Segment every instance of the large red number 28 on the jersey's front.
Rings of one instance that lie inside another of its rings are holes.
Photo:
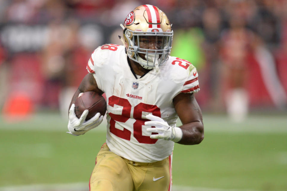
[[[123,130],[117,129],[115,127],[115,124],[116,121],[124,123],[130,118],[132,105],[129,103],[129,100],[125,98],[119,98],[117,96],[109,97],[109,105],[114,107],[115,104],[123,107],[122,115],[109,113],[109,115],[111,116],[110,132],[113,133],[114,135],[117,135],[120,138],[130,141],[132,132],[125,128],[123,128]],[[156,105],[149,105],[144,103],[139,103],[138,105],[136,105],[133,112],[133,118],[135,118],[136,120],[135,123],[133,124],[134,128],[133,136],[138,140],[139,143],[155,144],[155,142],[158,139],[151,139],[149,136],[142,135],[142,125],[144,125],[145,121],[148,121],[148,119],[142,118],[143,112],[152,113],[152,115],[161,117],[160,109]]]

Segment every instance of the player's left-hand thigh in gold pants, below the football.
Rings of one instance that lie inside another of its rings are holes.
[[[103,145],[90,178],[90,191],[132,191],[132,177],[126,162]]]

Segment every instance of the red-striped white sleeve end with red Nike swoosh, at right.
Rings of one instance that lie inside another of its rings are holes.
[[[190,65],[188,69],[190,72],[187,78],[185,79],[185,82],[181,88],[180,93],[196,93],[200,90],[196,67]]]

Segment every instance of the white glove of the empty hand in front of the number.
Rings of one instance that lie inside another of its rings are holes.
[[[178,142],[182,138],[182,130],[179,127],[170,127],[169,124],[162,118],[154,116],[152,114],[146,115],[146,118],[151,121],[146,121],[144,124],[149,126],[154,126],[155,128],[147,128],[146,131],[152,133],[158,133],[150,135],[152,139],[162,138],[164,140],[171,140]]]

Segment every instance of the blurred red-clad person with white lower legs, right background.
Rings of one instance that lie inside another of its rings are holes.
[[[248,53],[251,50],[252,33],[245,28],[245,20],[238,15],[229,19],[230,28],[222,34],[221,90],[226,110],[231,119],[244,120],[248,113]]]

